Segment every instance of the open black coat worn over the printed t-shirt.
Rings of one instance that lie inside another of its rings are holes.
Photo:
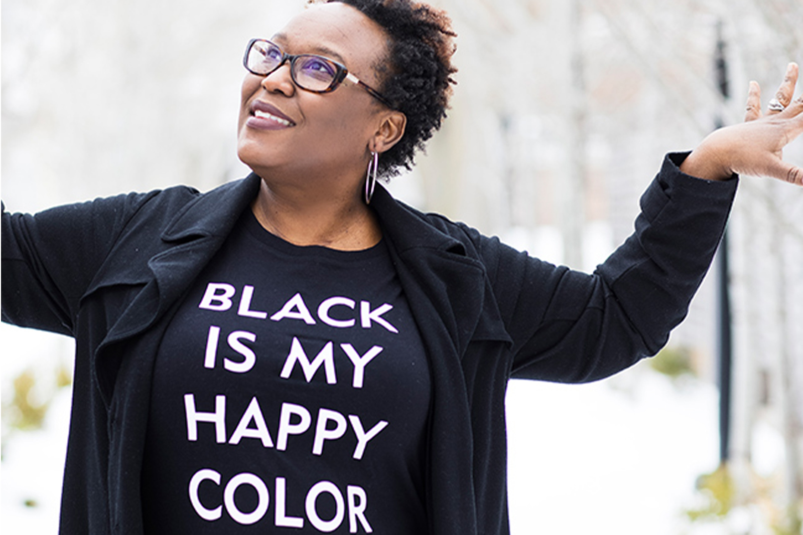
[[[504,398],[511,378],[585,382],[654,355],[687,314],[736,180],[670,155],[635,233],[594,274],[528,257],[377,188],[372,206],[433,382],[426,501],[434,535],[508,533]],[[259,189],[177,187],[3,211],[2,319],[75,337],[60,533],[141,534],[150,375],[177,302]]]

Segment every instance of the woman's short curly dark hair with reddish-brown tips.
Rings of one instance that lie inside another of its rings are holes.
[[[379,159],[379,174],[396,176],[414,164],[415,152],[441,127],[449,106],[451,64],[457,34],[445,11],[411,0],[326,0],[361,11],[389,37],[388,66],[377,67],[384,77],[379,92],[407,117],[404,136]],[[311,3],[315,0],[311,0]]]

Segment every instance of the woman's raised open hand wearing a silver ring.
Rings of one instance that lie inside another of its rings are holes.
[[[803,133],[803,95],[793,100],[798,67],[789,63],[781,87],[770,102],[781,103],[761,111],[761,89],[750,83],[744,123],[720,128],[707,136],[687,157],[680,170],[708,180],[726,180],[733,173],[772,176],[803,186],[803,168],[783,160],[784,147]]]

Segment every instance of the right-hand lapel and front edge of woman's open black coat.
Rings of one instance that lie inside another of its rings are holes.
[[[483,264],[470,244],[434,227],[422,213],[374,193],[399,281],[433,379],[427,457],[431,533],[477,533],[471,399],[462,357],[472,339],[510,342]],[[444,227],[446,229],[446,227]]]

